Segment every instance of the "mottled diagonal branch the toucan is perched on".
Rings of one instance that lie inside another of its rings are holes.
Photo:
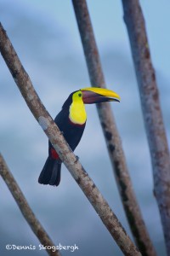
[[[42,126],[43,131],[48,136],[48,139],[53,144],[55,150],[59,154],[59,158],[64,162],[71,175],[75,178],[83,193],[88,197],[99,218],[105,224],[105,227],[111,233],[111,236],[116,240],[117,245],[122,249],[125,255],[141,255],[133,242],[127,236],[122,224],[119,223],[114,212],[111,211],[108,203],[100,194],[99,189],[94,182],[88,177],[79,160],[75,154],[71,152],[68,144],[54,120],[49,116],[47,110],[43,107],[42,102],[37,96],[31,84],[31,79],[26,73],[24,67],[10,43],[3,26],[0,24],[0,50],[3,59],[14,77],[15,83],[18,85],[20,92],[28,107],[31,109],[34,117],[37,119],[39,125]]]

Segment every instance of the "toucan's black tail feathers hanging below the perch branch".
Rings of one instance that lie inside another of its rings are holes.
[[[38,178],[38,183],[58,186],[60,182],[61,161],[48,156]]]

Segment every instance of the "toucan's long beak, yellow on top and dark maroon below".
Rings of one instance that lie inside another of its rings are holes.
[[[83,88],[82,101],[84,104],[93,104],[100,102],[120,102],[120,96],[113,90],[107,90],[104,88]]]

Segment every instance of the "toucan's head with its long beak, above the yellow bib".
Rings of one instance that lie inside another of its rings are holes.
[[[120,96],[113,90],[89,87],[72,92],[65,101],[63,108],[70,107],[72,102],[83,102],[84,104],[120,102]]]

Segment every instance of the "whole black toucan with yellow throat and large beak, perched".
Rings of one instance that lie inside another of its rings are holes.
[[[84,104],[100,102],[120,102],[120,96],[112,90],[103,88],[90,87],[76,90],[67,98],[54,119],[72,151],[77,148],[86,125],[87,113]],[[48,159],[42,168],[38,183],[58,186],[61,163],[53,145],[48,142]]]

